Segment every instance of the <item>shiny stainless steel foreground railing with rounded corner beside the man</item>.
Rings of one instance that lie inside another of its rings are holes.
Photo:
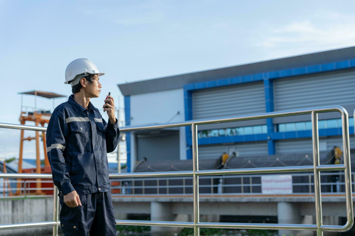
[[[343,153],[344,164],[342,165],[320,165],[319,163],[319,145],[318,145],[318,113],[338,111],[342,116],[342,137],[343,137]],[[355,111],[354,111],[355,113]],[[248,168],[248,169],[222,169],[222,170],[198,170],[198,152],[197,152],[197,125],[222,123],[231,121],[266,119],[281,116],[292,116],[311,114],[312,120],[312,146],[313,146],[313,165],[312,166],[293,166],[293,167],[268,167],[268,168]],[[191,126],[192,129],[192,171],[174,171],[174,172],[148,172],[148,173],[120,173],[110,174],[111,178],[124,177],[163,177],[163,176],[192,176],[193,178],[193,222],[172,222],[172,221],[145,221],[145,220],[116,220],[116,223],[122,225],[147,225],[147,226],[171,226],[171,227],[189,227],[194,229],[194,235],[200,235],[200,228],[237,228],[237,229],[272,229],[272,230],[313,230],[317,231],[317,236],[323,235],[323,231],[344,232],[353,226],[353,202],[351,192],[351,169],[350,169],[350,145],[349,145],[349,123],[348,113],[340,106],[318,107],[310,109],[298,109],[289,111],[277,111],[271,113],[261,113],[246,116],[233,116],[218,119],[192,120],[169,124],[158,124],[148,126],[122,127],[121,132],[130,132],[141,129],[169,128]],[[11,125],[0,123],[3,128],[27,129],[43,131],[45,128]],[[45,131],[45,130],[44,130]],[[322,223],[322,205],[320,191],[320,172],[321,171],[340,171],[344,170],[345,178],[345,199],[347,222],[343,226],[323,225]],[[276,173],[276,172],[313,172],[315,186],[315,207],[316,207],[316,224],[248,224],[248,223],[206,223],[199,220],[199,194],[198,194],[198,178],[206,175],[221,174],[255,174],[255,173]],[[50,174],[0,174],[0,178],[51,178]],[[45,225],[53,225],[53,235],[58,235],[58,189],[54,188],[54,215],[53,221],[22,223],[0,225],[1,229],[14,229],[24,227],[37,227]]]

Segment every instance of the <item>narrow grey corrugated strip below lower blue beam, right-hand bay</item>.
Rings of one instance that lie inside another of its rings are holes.
[[[339,146],[343,150],[343,140],[341,136],[319,139],[319,151],[330,151],[334,146]],[[350,149],[355,149],[354,135],[350,135]],[[312,152],[312,139],[286,139],[276,141],[277,154],[294,154]]]

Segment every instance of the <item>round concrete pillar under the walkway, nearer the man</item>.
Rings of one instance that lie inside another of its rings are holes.
[[[151,202],[152,221],[173,221],[175,216],[171,213],[170,202]],[[174,235],[177,227],[151,226],[152,236]]]

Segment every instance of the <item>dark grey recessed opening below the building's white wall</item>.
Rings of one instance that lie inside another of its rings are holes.
[[[179,132],[159,136],[137,136],[137,161],[180,160]]]

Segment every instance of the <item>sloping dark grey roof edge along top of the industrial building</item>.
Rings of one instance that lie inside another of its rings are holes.
[[[124,96],[182,88],[185,84],[284,70],[355,58],[355,46],[118,84]]]

